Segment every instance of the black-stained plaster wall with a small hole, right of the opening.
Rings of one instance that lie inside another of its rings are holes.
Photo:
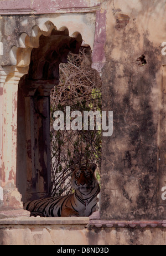
[[[108,1],[102,106],[113,110],[114,121],[113,136],[102,144],[103,219],[166,216],[164,171],[159,176],[164,17],[165,1]],[[142,55],[147,64],[140,66]]]

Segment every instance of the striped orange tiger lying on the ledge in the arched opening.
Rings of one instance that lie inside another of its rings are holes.
[[[40,217],[71,217],[90,216],[96,209],[97,195],[100,186],[95,176],[96,164],[90,167],[71,165],[71,185],[74,193],[37,199],[24,204],[30,216]]]

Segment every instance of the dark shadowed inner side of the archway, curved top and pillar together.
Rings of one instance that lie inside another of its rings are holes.
[[[40,36],[29,72],[18,86],[17,188],[23,201],[50,196],[50,91],[59,83],[59,64],[79,53],[82,37],[66,31]]]

